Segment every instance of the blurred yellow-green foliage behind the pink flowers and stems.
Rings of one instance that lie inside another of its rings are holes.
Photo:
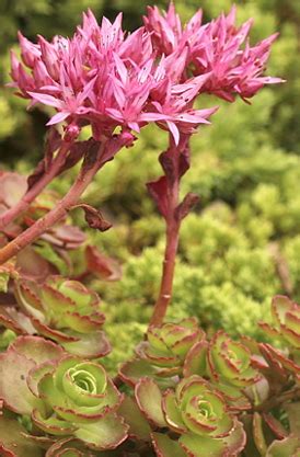
[[[165,2],[158,2],[165,7]],[[238,0],[239,21],[255,19],[253,41],[275,31],[269,73],[286,84],[263,90],[251,106],[221,104],[212,125],[193,140],[192,169],[183,194],[201,201],[184,222],[174,298],[169,317],[196,315],[207,329],[223,327],[232,335],[261,339],[256,322],[268,319],[273,295],[288,293],[300,300],[300,3],[295,0]],[[210,19],[228,11],[231,0],[175,1],[184,20],[197,8]],[[16,31],[70,34],[81,11],[97,18],[125,13],[128,30],[140,23],[147,2],[134,0],[2,0],[0,2],[0,81],[9,81],[9,48]],[[46,111],[25,111],[23,100],[0,89],[1,165],[26,171],[43,151]],[[95,283],[107,315],[107,331],[116,343],[112,364],[130,352],[146,327],[158,293],[163,222],[145,183],[159,176],[158,155],[164,133],[149,127],[132,149],[101,172],[85,195],[103,208],[115,228],[92,233],[94,241],[123,263],[118,283]],[[54,184],[64,193],[72,174]],[[81,218],[78,222],[83,225]]]

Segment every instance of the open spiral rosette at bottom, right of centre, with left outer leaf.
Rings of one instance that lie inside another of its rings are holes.
[[[242,425],[228,411],[222,395],[199,376],[183,379],[175,390],[168,389],[163,393],[151,379],[145,378],[136,387],[136,398],[150,422],[160,427],[168,426],[180,435],[178,441],[173,442],[154,434],[158,455],[171,455],[170,446],[174,447],[176,443],[183,455],[197,457],[233,457],[244,447]],[[161,409],[158,408],[159,400]],[[165,453],[161,445],[169,452]]]

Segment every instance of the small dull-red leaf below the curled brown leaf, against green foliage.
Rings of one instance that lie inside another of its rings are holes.
[[[112,258],[103,255],[94,245],[85,249],[85,260],[88,271],[99,276],[101,279],[118,281],[122,277],[120,265]]]

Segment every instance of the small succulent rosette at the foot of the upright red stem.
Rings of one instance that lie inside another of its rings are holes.
[[[123,365],[120,376],[135,385],[142,376],[171,378],[178,375],[188,351],[204,336],[195,318],[150,327],[147,341],[136,349],[138,358]]]

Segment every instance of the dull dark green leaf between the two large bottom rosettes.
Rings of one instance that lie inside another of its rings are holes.
[[[118,414],[120,414],[129,425],[129,437],[146,442],[150,441],[151,427],[141,414],[134,398],[128,396],[125,397],[118,409]]]

